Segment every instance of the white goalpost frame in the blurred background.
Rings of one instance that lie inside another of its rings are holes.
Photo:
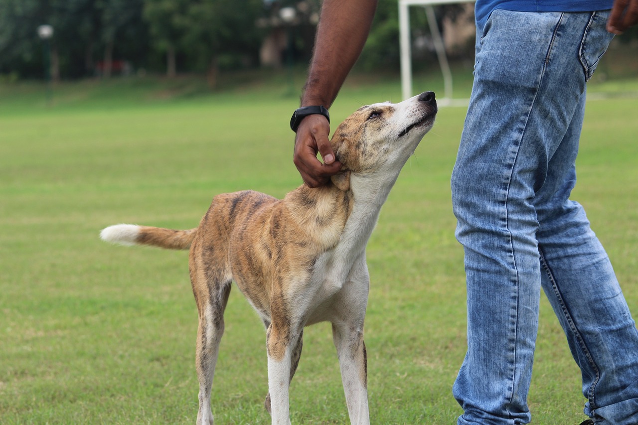
[[[403,99],[412,97],[412,43],[410,42],[410,6],[423,6],[432,34],[432,41],[438,57],[441,73],[443,73],[443,98],[437,101],[439,105],[466,105],[467,100],[452,98],[452,71],[447,62],[445,45],[441,38],[441,31],[436,24],[434,8],[437,4],[470,3],[472,0],[399,0],[399,45],[401,55],[401,96]]]

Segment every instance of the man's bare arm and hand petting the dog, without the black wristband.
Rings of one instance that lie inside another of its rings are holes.
[[[376,0],[323,1],[302,107],[332,105],[366,43],[375,10]],[[341,168],[329,133],[328,120],[318,114],[305,117],[297,129],[293,161],[311,188],[327,183]],[[317,152],[323,163],[316,158]]]

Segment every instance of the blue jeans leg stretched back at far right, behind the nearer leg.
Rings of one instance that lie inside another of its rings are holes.
[[[599,424],[638,424],[638,330],[584,209],[568,198],[581,121],[577,111],[535,198],[541,282],[581,368],[585,414]]]

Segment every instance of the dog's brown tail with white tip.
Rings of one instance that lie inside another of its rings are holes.
[[[188,250],[197,228],[190,230],[171,230],[161,227],[137,225],[114,225],[103,229],[100,237],[103,241],[121,245],[152,245],[167,250]]]

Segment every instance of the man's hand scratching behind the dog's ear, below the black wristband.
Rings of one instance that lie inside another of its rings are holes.
[[[337,174],[341,168],[332,152],[329,134],[330,124],[319,114],[305,117],[297,129],[293,161],[304,183],[311,188],[328,183],[330,176]],[[318,152],[323,163],[317,159]]]

